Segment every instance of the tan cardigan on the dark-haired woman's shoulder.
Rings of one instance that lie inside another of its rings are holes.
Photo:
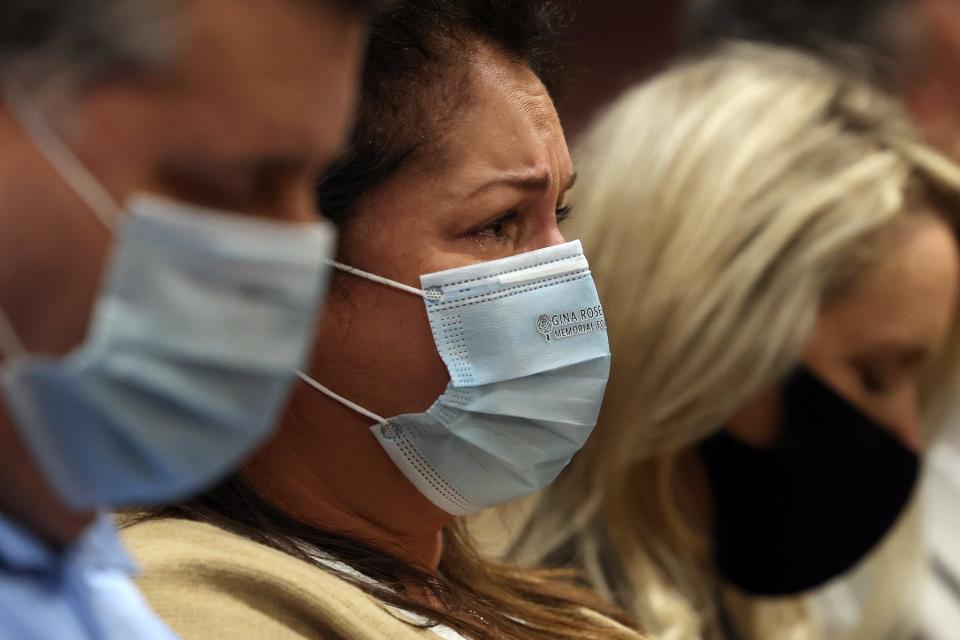
[[[140,588],[183,640],[438,640],[333,574],[211,525],[157,520],[122,537]]]

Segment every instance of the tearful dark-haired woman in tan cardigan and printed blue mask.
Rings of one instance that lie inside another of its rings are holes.
[[[319,187],[340,271],[304,383],[238,476],[126,530],[187,640],[637,637],[568,574],[482,559],[455,517],[552,481],[609,370],[557,228],[556,24],[531,0],[414,0],[374,24]]]

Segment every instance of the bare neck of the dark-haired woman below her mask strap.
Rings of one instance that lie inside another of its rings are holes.
[[[309,418],[307,418],[309,416]],[[397,469],[369,420],[298,390],[280,430],[245,479],[291,517],[435,571],[452,518]]]

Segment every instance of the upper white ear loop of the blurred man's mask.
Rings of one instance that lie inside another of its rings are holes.
[[[40,115],[39,108],[26,93],[18,87],[10,86],[7,87],[5,96],[11,115],[37,146],[40,154],[76,191],[107,230],[113,232],[120,217],[120,207],[113,196],[50,128]]]

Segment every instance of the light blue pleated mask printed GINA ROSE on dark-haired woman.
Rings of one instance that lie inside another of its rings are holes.
[[[369,417],[393,462],[441,509],[466,515],[550,484],[597,423],[610,371],[603,309],[579,241],[421,278],[450,374],[424,413]]]

